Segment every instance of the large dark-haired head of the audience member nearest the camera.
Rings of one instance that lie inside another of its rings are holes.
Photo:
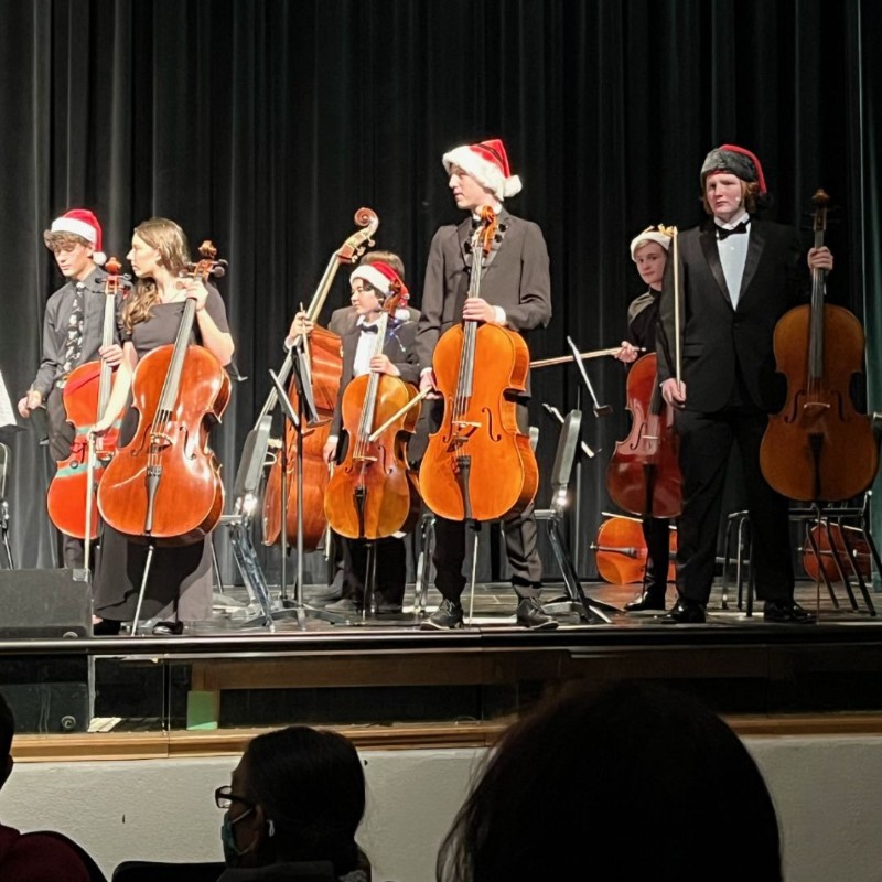
[[[722,836],[733,843],[724,856]],[[621,684],[564,698],[505,734],[437,875],[779,882],[777,818],[722,720],[687,696]]]

